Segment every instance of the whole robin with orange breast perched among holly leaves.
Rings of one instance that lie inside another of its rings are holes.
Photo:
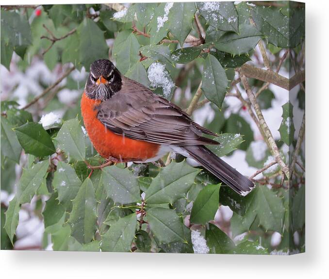
[[[194,159],[235,192],[246,196],[255,186],[205,145],[217,136],[179,106],[120,73],[108,59],[96,60],[81,99],[87,134],[99,155],[110,162],[156,162],[168,152]]]

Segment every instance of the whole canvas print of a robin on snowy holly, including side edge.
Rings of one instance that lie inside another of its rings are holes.
[[[1,249],[305,251],[305,5],[1,6]]]

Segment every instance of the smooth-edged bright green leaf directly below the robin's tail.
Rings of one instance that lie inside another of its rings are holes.
[[[220,184],[208,184],[197,195],[193,203],[190,222],[193,224],[205,224],[214,220],[218,210]]]

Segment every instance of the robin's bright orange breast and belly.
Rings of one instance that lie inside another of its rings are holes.
[[[107,129],[97,118],[95,106],[99,100],[92,100],[82,94],[81,111],[88,136],[100,156],[115,157],[125,161],[145,161],[157,155],[160,145],[134,140],[115,134]],[[137,160],[136,160],[137,161]]]

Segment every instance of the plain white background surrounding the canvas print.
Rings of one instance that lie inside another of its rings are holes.
[[[128,0],[127,0],[128,1]],[[100,2],[70,0],[66,3]],[[143,2],[147,2],[144,0]],[[1,278],[324,278],[329,275],[329,1],[306,2],[306,253],[294,256],[0,251]],[[39,1],[1,1],[1,4]],[[43,4],[54,0],[42,0]],[[64,3],[64,1],[56,2]]]

